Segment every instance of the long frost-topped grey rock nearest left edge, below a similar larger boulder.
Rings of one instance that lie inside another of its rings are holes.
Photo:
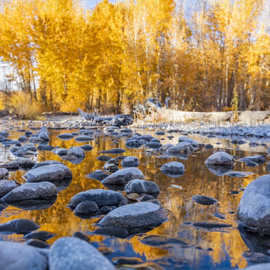
[[[57,195],[57,188],[50,182],[25,183],[2,197],[6,203],[29,199],[41,199]]]

